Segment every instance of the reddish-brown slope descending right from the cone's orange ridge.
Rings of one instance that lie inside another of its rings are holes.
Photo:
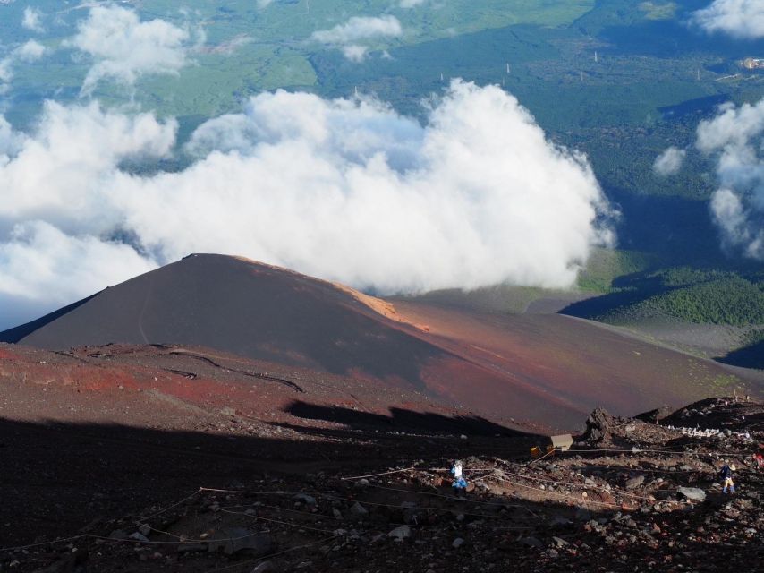
[[[427,324],[427,339],[462,361],[489,372],[475,392],[473,381],[455,373],[439,391],[477,411],[522,409],[534,419],[569,423],[566,412],[590,412],[595,404],[632,415],[655,404],[683,404],[739,386],[757,394],[755,377],[737,379],[724,366],[684,355],[591,321],[561,314],[463,312],[412,302],[395,302],[403,320]],[[426,370],[426,372],[429,372]],[[496,377],[502,380],[497,384]],[[562,415],[563,417],[557,417]],[[574,422],[573,422],[574,423]]]

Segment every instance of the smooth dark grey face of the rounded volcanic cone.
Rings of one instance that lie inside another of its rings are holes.
[[[386,324],[352,295],[252,261],[193,254],[15,329],[0,341],[207,346],[259,360],[417,383],[443,350]]]

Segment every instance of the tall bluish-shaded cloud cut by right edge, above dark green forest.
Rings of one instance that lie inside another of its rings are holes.
[[[710,207],[725,246],[764,261],[764,98],[720,107],[700,122],[695,144],[717,158],[719,189]]]

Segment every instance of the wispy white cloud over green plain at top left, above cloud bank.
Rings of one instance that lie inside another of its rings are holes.
[[[90,8],[65,45],[94,61],[82,85],[87,95],[106,79],[132,86],[144,74],[177,74],[188,63],[190,42],[186,28],[159,19],[141,22],[133,10],[106,5]]]

